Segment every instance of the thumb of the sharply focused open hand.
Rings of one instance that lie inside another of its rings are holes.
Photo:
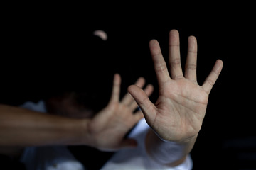
[[[139,108],[142,109],[146,121],[149,124],[153,123],[153,120],[156,117],[156,107],[151,103],[146,92],[136,85],[129,86],[128,91],[139,105]]]

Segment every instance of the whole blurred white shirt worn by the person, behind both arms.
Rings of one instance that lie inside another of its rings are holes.
[[[32,103],[30,101],[24,103],[21,107],[28,108],[33,111],[46,113],[45,103],[39,101]],[[193,162],[188,156],[183,162],[176,167],[167,167],[157,164],[146,153],[144,140],[146,132],[149,130],[144,119],[137,123],[136,127],[130,132],[129,137],[134,138],[138,142],[138,146],[134,149],[121,149],[116,152],[110,160],[102,166],[101,170],[191,170]],[[175,157],[175,155],[174,155]],[[21,162],[26,165],[28,170],[85,170],[78,160],[73,157],[66,147],[27,147],[21,157]]]

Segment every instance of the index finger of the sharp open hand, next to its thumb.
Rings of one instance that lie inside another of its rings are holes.
[[[159,84],[165,83],[170,79],[169,72],[164,61],[164,57],[161,53],[159,42],[157,40],[151,40],[149,42],[149,48],[154,62],[154,69]]]

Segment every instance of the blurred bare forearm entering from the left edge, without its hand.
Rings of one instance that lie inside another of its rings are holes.
[[[0,105],[0,146],[86,145],[87,121]]]

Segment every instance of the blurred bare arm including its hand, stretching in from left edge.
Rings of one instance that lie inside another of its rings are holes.
[[[42,114],[16,106],[0,105],[0,147],[41,145],[88,145],[102,150],[134,147],[136,141],[124,139],[129,130],[143,118],[137,103],[127,93],[119,101],[121,77],[114,75],[109,104],[93,118],[68,118]],[[135,83],[143,87],[144,78]],[[153,86],[144,89],[151,94]]]

